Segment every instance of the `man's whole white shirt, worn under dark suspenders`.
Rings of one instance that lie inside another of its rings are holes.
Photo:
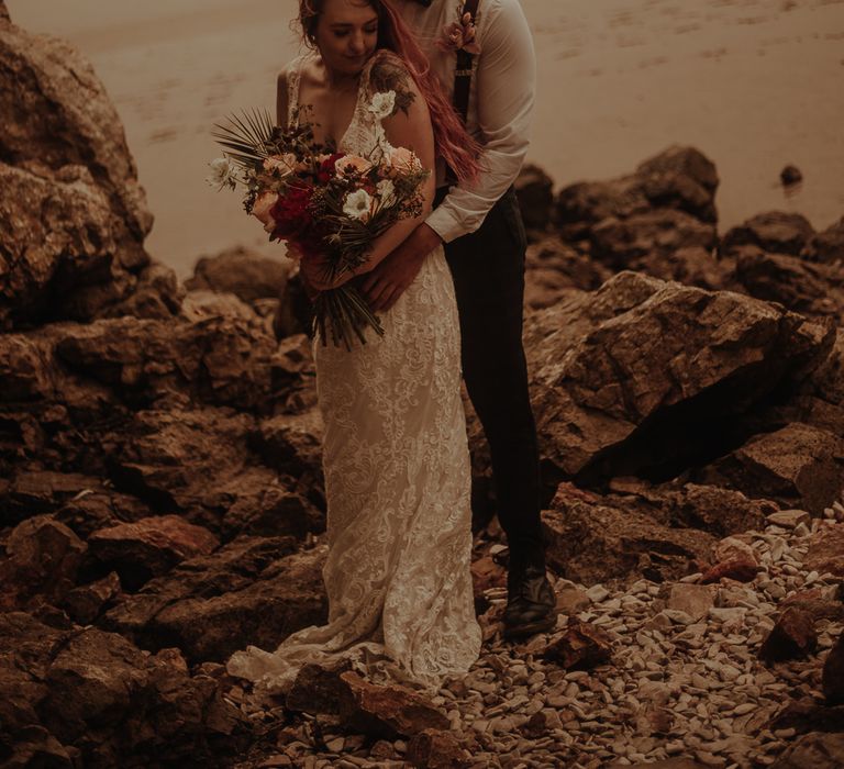
[[[396,7],[417,34],[451,99],[456,54],[441,51],[436,43],[444,37],[443,27],[457,21],[458,0],[434,0],[430,8],[413,0],[396,0]],[[484,223],[519,175],[530,142],[536,57],[519,0],[480,0],[476,36],[480,54],[471,78],[466,123],[485,146],[484,170],[476,186],[454,187],[427,218],[426,224],[445,243],[475,232]],[[444,168],[437,168],[437,183],[444,176]]]

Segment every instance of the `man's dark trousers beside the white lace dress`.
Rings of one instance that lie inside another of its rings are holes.
[[[538,448],[522,346],[525,248],[511,187],[476,232],[445,244],[445,255],[460,317],[463,377],[489,442],[511,564],[542,566]]]

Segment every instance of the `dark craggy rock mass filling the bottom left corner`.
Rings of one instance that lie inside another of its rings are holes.
[[[13,612],[0,614],[0,660],[5,759],[127,766],[167,755],[218,766],[246,747],[244,716],[211,678],[190,678],[178,650],[151,657],[112,633],[56,631]]]

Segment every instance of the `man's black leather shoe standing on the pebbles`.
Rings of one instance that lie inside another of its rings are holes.
[[[557,599],[540,566],[511,565],[507,577],[504,638],[546,633],[557,624]]]

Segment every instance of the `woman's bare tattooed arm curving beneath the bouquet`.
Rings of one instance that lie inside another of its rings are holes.
[[[391,90],[396,92],[393,113],[382,121],[387,141],[393,147],[412,149],[422,161],[422,167],[429,170],[429,177],[421,190],[422,212],[414,219],[402,219],[396,222],[387,232],[373,241],[366,263],[354,272],[346,272],[332,283],[320,283],[314,275],[316,288],[320,289],[336,288],[355,276],[371,270],[425,221],[425,218],[431,213],[434,201],[436,183],[434,178],[434,133],[431,127],[427,104],[419,92],[417,83],[396,56],[382,56],[373,65],[370,83],[373,91]]]

